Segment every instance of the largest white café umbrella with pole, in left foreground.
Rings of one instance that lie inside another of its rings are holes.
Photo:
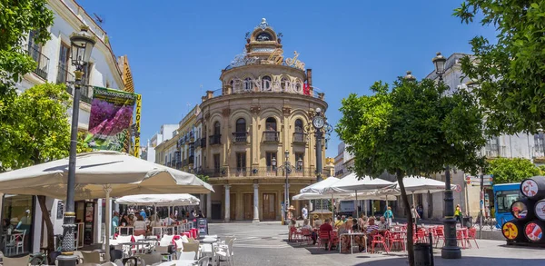
[[[106,199],[106,260],[110,255],[110,196],[143,193],[208,193],[195,175],[150,163],[126,153],[80,153],[75,165],[75,200]],[[0,192],[66,197],[68,158],[0,173]]]

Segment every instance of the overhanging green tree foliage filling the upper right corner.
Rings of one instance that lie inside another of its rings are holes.
[[[461,60],[461,69],[481,86],[475,93],[486,107],[487,128],[536,133],[545,126],[545,2],[466,0],[454,11],[466,24],[478,14],[481,25],[498,32],[497,43],[474,37],[474,55]]]

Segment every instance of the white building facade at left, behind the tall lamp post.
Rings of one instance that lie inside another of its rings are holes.
[[[54,12],[54,25],[49,28],[51,39],[45,44],[36,44],[33,40],[34,33],[29,33],[25,49],[35,59],[37,67],[34,72],[25,74],[23,80],[16,84],[17,90],[24,92],[36,84],[67,84],[67,82],[74,81],[75,68],[70,61],[70,34],[79,32],[81,25],[88,26],[97,41],[90,63],[84,66],[83,83],[88,86],[83,86],[81,90],[78,128],[81,131],[87,131],[91,111],[90,103],[93,98],[92,86],[123,90],[122,70],[117,64],[107,34],[80,5],[73,0],[49,0],[48,7]],[[70,94],[73,92],[71,87],[72,85],[67,84]],[[69,119],[71,116],[72,110],[69,110]],[[104,205],[105,202],[101,199],[75,203],[78,224],[78,232],[75,237],[80,247],[84,244],[102,241]],[[46,207],[51,213],[54,234],[62,234],[63,202],[47,198]],[[12,225],[19,226],[25,231],[23,252],[38,252],[41,246],[46,245],[46,232],[45,227],[42,227],[42,216],[43,213],[35,196],[4,195],[2,219],[10,220]],[[17,225],[18,222],[21,222],[21,225]]]

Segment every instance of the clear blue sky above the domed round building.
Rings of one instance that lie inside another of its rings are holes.
[[[332,124],[348,94],[369,94],[375,81],[390,83],[407,70],[420,79],[433,70],[436,52],[471,53],[474,35],[494,35],[451,15],[461,0],[78,3],[104,19],[114,53],[128,55],[135,90],[143,94],[142,143],[161,124],[178,123],[205,91],[221,88],[221,70],[242,52],[244,34],[262,17],[282,32],[284,54],[296,50],[312,68]],[[338,143],[332,133],[327,156],[336,155]]]

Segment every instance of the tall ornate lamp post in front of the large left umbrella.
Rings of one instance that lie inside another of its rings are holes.
[[[68,183],[66,189],[66,209],[64,212],[62,253],[57,257],[59,266],[74,266],[77,261],[77,257],[74,256],[74,182],[80,89],[84,75],[84,65],[89,63],[91,52],[93,52],[93,47],[96,43],[94,35],[90,34],[88,30],[89,27],[83,25],[79,33],[74,33],[70,36],[72,64],[75,66],[74,103],[72,105],[72,129],[70,133],[70,157],[68,159]]]

